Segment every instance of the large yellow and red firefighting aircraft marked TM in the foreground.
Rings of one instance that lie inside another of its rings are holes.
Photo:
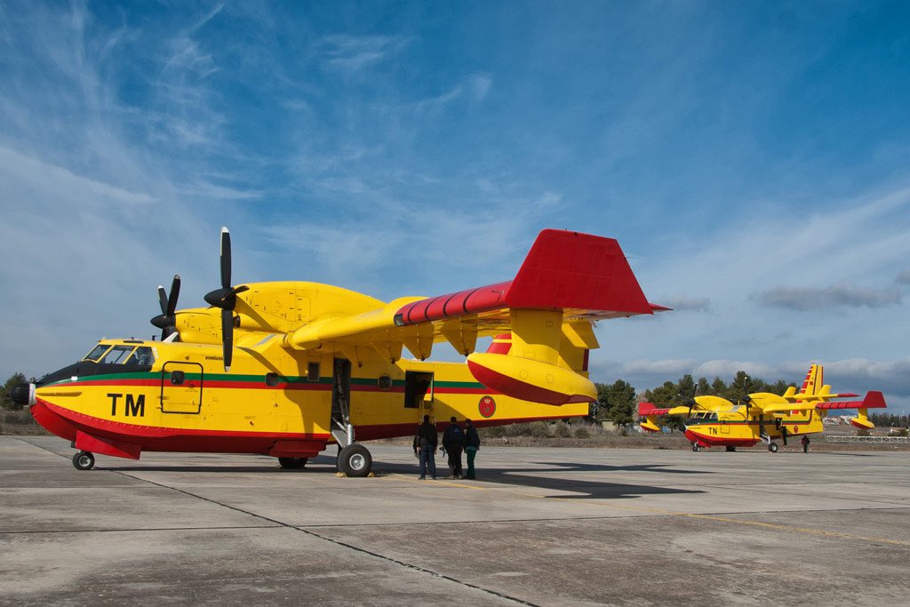
[[[312,282],[232,286],[227,228],[220,265],[209,308],[177,310],[179,276],[158,287],[160,341],[102,339],[13,390],[73,442],[77,469],[93,453],[143,451],[259,453],[302,468],[337,443],[339,470],[366,476],[372,459],[356,440],[412,435],[424,415],[439,428],[450,416],[493,426],[587,415],[593,322],[665,309],[616,240],[552,229],[511,280],[389,303]],[[441,341],[467,364],[425,361]]]

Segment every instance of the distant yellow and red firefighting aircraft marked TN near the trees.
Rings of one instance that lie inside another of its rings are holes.
[[[743,399],[742,404],[717,396],[696,396],[687,405],[658,409],[650,402],[639,403],[638,413],[644,418],[642,429],[660,431],[656,419],[660,415],[685,416],[685,436],[692,441],[692,449],[703,447],[752,447],[758,441],[767,443],[768,450],[776,453],[775,439],[787,444],[787,437],[821,432],[822,420],[829,410],[855,409],[857,415],[850,422],[857,428],[875,428],[869,421],[867,410],[885,407],[881,392],[867,392],[863,400],[834,401],[853,398],[857,394],[832,394],[831,386],[824,384],[824,368],[812,365],[805,376],[799,393],[791,386],[783,396],[769,392],[755,392]]]

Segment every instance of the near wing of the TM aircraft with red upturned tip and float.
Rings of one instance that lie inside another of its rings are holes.
[[[664,309],[645,298],[616,240],[545,229],[511,280],[432,298],[399,298],[381,309],[310,322],[285,342],[298,349],[338,349],[357,361],[358,349],[396,360],[402,347],[426,359],[433,343],[445,340],[469,357],[471,372],[484,385],[524,400],[563,404],[597,398],[593,384],[578,373],[587,370],[586,351],[598,347],[592,321]],[[486,353],[474,352],[484,336],[503,339]]]

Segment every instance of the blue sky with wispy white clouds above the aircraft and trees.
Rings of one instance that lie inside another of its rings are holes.
[[[148,337],[158,284],[391,299],[619,239],[652,301],[595,380],[910,410],[910,5],[0,4],[0,375]]]

